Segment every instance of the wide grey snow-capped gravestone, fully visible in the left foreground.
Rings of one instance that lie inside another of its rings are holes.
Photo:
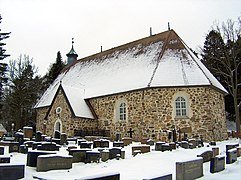
[[[72,156],[65,155],[40,155],[37,160],[37,172],[45,172],[49,170],[71,169]]]

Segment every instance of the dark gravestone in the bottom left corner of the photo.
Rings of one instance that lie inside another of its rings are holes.
[[[25,165],[0,164],[1,180],[16,180],[24,178]]]

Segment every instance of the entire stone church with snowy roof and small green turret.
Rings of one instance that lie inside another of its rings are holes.
[[[227,91],[174,30],[136,40],[68,65],[36,104],[37,130],[103,132],[167,141],[168,132],[224,140]],[[92,134],[91,134],[92,132]]]

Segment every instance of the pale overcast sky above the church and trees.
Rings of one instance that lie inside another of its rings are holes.
[[[168,22],[189,47],[203,46],[214,21],[237,20],[241,0],[0,0],[5,49],[33,58],[44,75],[60,51],[86,57],[166,31]]]

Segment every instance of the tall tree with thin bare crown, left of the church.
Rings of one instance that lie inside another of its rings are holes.
[[[20,129],[35,120],[33,107],[39,98],[41,79],[29,56],[20,56],[9,63],[9,86],[5,100],[5,117]]]

